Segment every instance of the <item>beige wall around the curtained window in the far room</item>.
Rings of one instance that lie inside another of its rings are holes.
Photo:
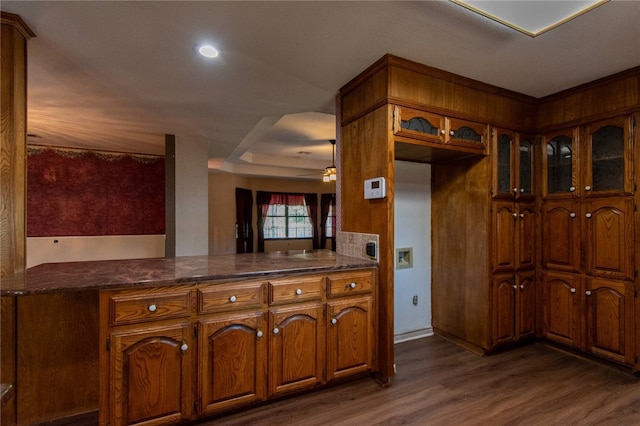
[[[229,173],[209,173],[209,254],[231,254],[236,252],[236,188],[253,192],[254,251],[258,243],[256,230],[257,191],[334,193],[335,184],[318,180],[278,179],[243,177]],[[318,203],[320,197],[318,197]],[[320,208],[318,208],[318,214]],[[281,240],[265,242],[265,251],[311,250],[310,240]]]

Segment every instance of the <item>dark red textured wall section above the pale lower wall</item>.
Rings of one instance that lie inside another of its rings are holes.
[[[164,234],[164,157],[28,146],[27,236]]]

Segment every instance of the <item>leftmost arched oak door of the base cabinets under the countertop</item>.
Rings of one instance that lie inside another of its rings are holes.
[[[192,335],[188,322],[112,334],[111,425],[169,424],[190,417]]]

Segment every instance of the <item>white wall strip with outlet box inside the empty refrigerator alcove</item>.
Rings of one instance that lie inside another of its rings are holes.
[[[395,162],[395,248],[413,249],[413,267],[394,272],[395,341],[432,334],[431,166]],[[395,250],[394,250],[395,253]],[[418,305],[413,297],[418,296]]]

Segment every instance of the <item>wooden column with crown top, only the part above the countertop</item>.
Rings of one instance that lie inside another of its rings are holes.
[[[0,276],[26,265],[27,40],[18,15],[2,12]]]

